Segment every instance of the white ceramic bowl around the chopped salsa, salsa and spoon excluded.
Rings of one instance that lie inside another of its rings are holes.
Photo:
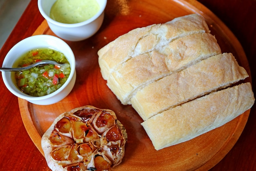
[[[24,53],[27,53],[28,51],[34,49],[41,48],[55,49],[56,51],[63,53],[67,60],[70,62],[70,76],[61,88],[59,88],[58,90],[54,91],[49,95],[34,97],[22,93],[18,89],[16,84],[13,82],[14,79],[11,78],[13,76],[11,72],[2,72],[2,78],[7,89],[9,89],[9,91],[11,91],[11,93],[16,95],[17,97],[39,105],[54,104],[56,102],[61,101],[70,93],[76,81],[76,61],[74,53],[66,42],[55,36],[31,36],[18,42],[15,46],[13,46],[13,48],[11,48],[11,50],[7,53],[7,55],[4,58],[2,67],[13,67],[13,64],[16,62],[16,60],[20,58],[20,56],[22,56]]]

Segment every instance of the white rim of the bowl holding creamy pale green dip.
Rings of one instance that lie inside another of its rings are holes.
[[[101,2],[102,5],[100,5],[99,11],[92,18],[89,18],[88,20],[85,20],[83,22],[78,22],[78,23],[74,23],[74,24],[67,24],[67,23],[58,22],[58,21],[53,20],[52,18],[50,18],[45,13],[45,11],[43,10],[42,2],[43,2],[43,0],[38,0],[38,9],[39,9],[41,15],[45,18],[45,20],[47,20],[47,22],[51,22],[52,24],[55,24],[57,26],[67,27],[67,28],[81,27],[83,25],[90,24],[91,22],[93,22],[94,20],[99,18],[99,16],[101,16],[101,14],[104,12],[104,10],[106,8],[106,5],[107,5],[107,0],[100,0],[100,1],[97,0],[97,2],[98,3]]]

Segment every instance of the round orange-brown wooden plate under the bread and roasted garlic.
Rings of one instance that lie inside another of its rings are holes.
[[[128,31],[173,18],[199,13],[216,36],[222,52],[234,54],[250,75],[247,58],[236,37],[209,9],[195,0],[108,0],[101,29],[81,42],[68,42],[76,56],[76,84],[61,102],[40,106],[19,100],[20,113],[32,141],[43,154],[40,140],[53,120],[75,107],[92,105],[111,109],[126,127],[128,142],[120,165],[114,170],[208,170],[234,146],[243,131],[249,110],[213,131],[193,140],[156,151],[140,123],[143,121],[130,106],[124,106],[101,77],[97,51]],[[54,35],[44,21],[36,34]],[[55,35],[54,35],[55,36]],[[251,81],[248,78],[246,81]],[[159,123],[161,124],[161,123]]]

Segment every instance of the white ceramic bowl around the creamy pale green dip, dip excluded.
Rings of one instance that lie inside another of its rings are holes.
[[[85,40],[94,35],[101,27],[107,0],[97,0],[100,7],[99,11],[92,18],[75,24],[57,22],[49,17],[54,2],[56,0],[38,0],[38,9],[47,20],[50,29],[58,37],[69,41]]]

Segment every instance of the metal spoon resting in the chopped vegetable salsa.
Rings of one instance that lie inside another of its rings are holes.
[[[58,66],[61,66],[63,64],[59,64],[58,62],[52,61],[52,60],[40,60],[38,62],[35,62],[34,64],[27,65],[26,67],[20,67],[20,68],[0,68],[0,71],[24,71],[30,68],[33,68],[37,65],[45,65],[45,64],[55,64]]]

